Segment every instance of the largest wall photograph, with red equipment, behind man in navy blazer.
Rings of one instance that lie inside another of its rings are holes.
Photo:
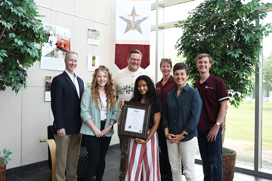
[[[44,37],[47,42],[43,43],[41,51],[40,69],[59,70],[65,69],[64,54],[70,51],[70,29],[44,23],[46,31]]]

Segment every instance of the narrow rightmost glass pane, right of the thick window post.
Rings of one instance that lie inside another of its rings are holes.
[[[267,12],[263,25],[271,23]],[[263,107],[262,107],[262,168],[272,170],[272,33],[263,40]],[[272,171],[271,171],[272,173]]]

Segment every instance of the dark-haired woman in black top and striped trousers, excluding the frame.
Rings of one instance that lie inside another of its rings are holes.
[[[125,180],[160,180],[157,128],[160,123],[161,100],[153,81],[141,75],[135,81],[131,102],[151,104],[147,140],[129,138]],[[120,107],[124,101],[120,102]],[[142,177],[141,177],[142,176]]]

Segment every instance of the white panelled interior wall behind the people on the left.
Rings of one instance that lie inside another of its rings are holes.
[[[100,65],[110,68],[113,75],[119,70],[115,65],[115,0],[35,0],[37,5],[65,11],[105,24],[75,17],[62,12],[39,7],[43,23],[56,24],[70,29],[71,50],[78,52],[76,74],[83,79],[84,87],[92,79],[93,72],[87,71],[87,55],[100,56]],[[88,28],[101,32],[100,46],[89,45]],[[39,45],[40,47],[40,45]],[[62,71],[42,70],[40,62],[28,69],[27,89],[18,92],[7,88],[0,92],[0,151],[11,148],[8,168],[27,165],[48,159],[47,143],[40,143],[40,138],[47,138],[47,126],[53,124],[50,102],[44,101],[45,76],[56,76]],[[112,144],[118,144],[117,125],[114,127]]]

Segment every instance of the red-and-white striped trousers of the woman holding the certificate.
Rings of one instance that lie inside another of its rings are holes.
[[[138,144],[133,138],[128,143],[125,181],[160,181],[157,132],[146,144]]]

